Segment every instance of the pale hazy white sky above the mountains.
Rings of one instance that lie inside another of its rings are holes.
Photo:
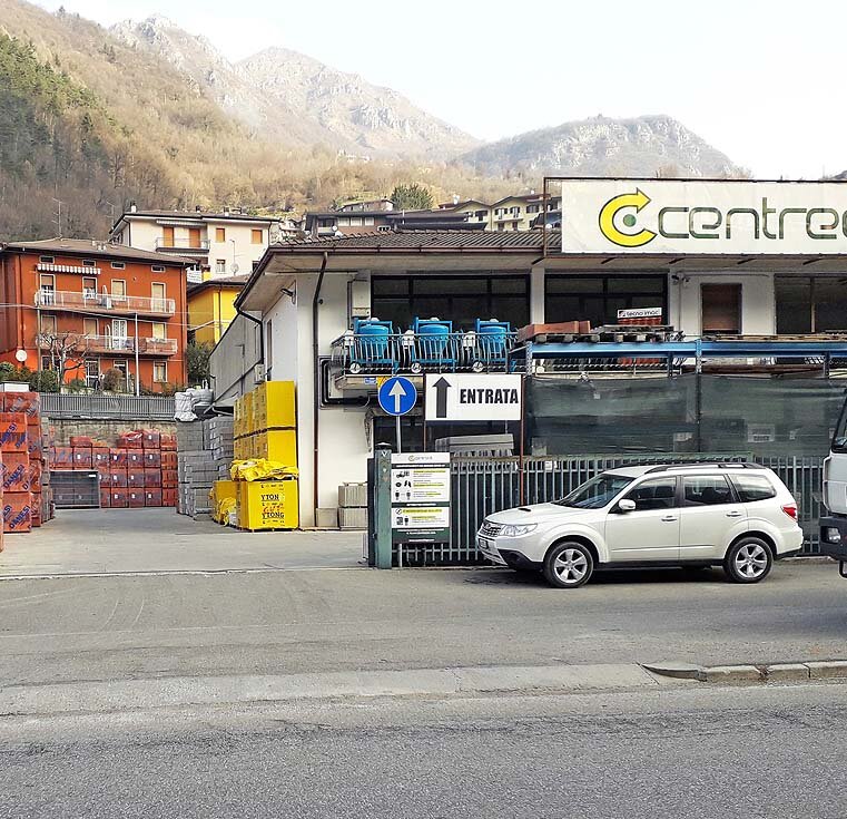
[[[40,2],[106,25],[164,13],[232,59],[285,46],[484,139],[597,114],[668,114],[759,177],[847,169],[847,3]]]

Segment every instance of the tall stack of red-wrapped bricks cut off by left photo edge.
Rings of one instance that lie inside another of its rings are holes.
[[[31,532],[52,518],[49,469],[45,464],[49,443],[49,436],[41,430],[39,394],[0,393],[0,507],[3,533]]]

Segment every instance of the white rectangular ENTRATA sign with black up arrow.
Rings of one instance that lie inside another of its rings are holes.
[[[427,421],[520,421],[521,377],[427,373]]]

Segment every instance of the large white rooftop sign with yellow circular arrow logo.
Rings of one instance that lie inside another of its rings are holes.
[[[562,251],[847,254],[847,185],[569,179]]]

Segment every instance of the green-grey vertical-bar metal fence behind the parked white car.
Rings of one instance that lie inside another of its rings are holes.
[[[463,458],[452,461],[452,544],[404,546],[398,565],[473,565],[485,563],[476,550],[475,535],[487,515],[524,504],[564,497],[580,484],[605,469],[636,464],[674,461],[749,461],[772,469],[797,499],[799,523],[806,535],[805,554],[819,549],[818,519],[821,507],[823,457],[760,457],[754,454],[700,452],[572,458]],[[523,489],[523,491],[521,491]],[[398,547],[395,547],[395,549]]]

